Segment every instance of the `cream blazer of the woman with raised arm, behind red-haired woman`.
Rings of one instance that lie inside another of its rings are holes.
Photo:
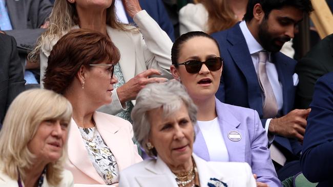
[[[149,68],[161,71],[162,75],[160,77],[173,79],[170,73],[173,43],[168,34],[158,26],[145,10],[138,12],[133,20],[139,27],[140,32],[124,32],[107,26],[107,33],[120,52],[119,66],[125,82]],[[73,29],[78,28],[78,26],[75,26]],[[130,28],[133,27],[128,27],[128,29]],[[58,38],[51,41],[47,40],[42,46],[40,53],[41,87],[43,87],[48,57],[57,41]],[[98,111],[112,115],[123,111],[116,90],[112,91],[112,103],[102,106]],[[135,101],[132,101],[132,103],[135,105]]]

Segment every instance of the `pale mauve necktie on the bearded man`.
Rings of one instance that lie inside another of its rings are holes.
[[[261,51],[259,52],[259,84],[264,93],[264,102],[263,102],[263,118],[275,118],[278,113],[278,104],[275,99],[275,95],[273,92],[272,85],[268,80],[267,72],[266,72],[266,59],[267,52]]]

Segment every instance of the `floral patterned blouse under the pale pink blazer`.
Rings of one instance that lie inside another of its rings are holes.
[[[100,177],[106,184],[110,185],[118,182],[118,165],[116,158],[112,154],[109,147],[105,144],[102,137],[95,127],[93,128],[79,128],[83,141],[85,142],[90,161]],[[95,136],[94,136],[94,131]],[[94,136],[94,138],[93,138]],[[93,138],[93,139],[92,139]],[[92,139],[92,141],[87,141]]]

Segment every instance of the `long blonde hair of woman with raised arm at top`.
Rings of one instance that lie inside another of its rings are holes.
[[[130,25],[122,24],[117,20],[115,13],[115,1],[107,8],[107,25],[111,28],[120,31],[138,32],[138,29],[128,27]],[[51,49],[52,40],[58,40],[65,35],[74,26],[79,24],[79,17],[74,3],[69,3],[67,0],[56,0],[49,17],[49,27],[38,38],[36,48],[29,54],[29,60],[39,61],[41,48],[48,44],[47,48]]]

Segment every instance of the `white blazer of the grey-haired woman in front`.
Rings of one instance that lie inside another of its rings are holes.
[[[218,179],[228,187],[256,187],[251,168],[245,162],[207,162],[195,154],[195,160],[200,186],[208,186],[208,183]],[[119,187],[178,187],[175,175],[168,166],[158,157],[157,159],[144,160],[120,173]],[[222,186],[215,185],[216,187]]]

